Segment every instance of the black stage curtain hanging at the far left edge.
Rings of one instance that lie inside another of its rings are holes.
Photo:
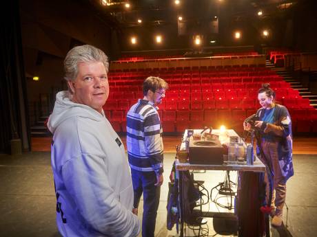
[[[30,150],[30,126],[19,1],[7,1],[0,13],[0,153],[9,153],[11,139],[21,139],[23,150]]]

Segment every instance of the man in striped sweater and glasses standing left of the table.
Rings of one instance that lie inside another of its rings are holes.
[[[156,105],[165,98],[167,88],[167,82],[161,78],[146,78],[143,99],[127,112],[127,155],[134,190],[134,212],[137,212],[143,193],[143,237],[154,237],[163,183],[163,130]]]

